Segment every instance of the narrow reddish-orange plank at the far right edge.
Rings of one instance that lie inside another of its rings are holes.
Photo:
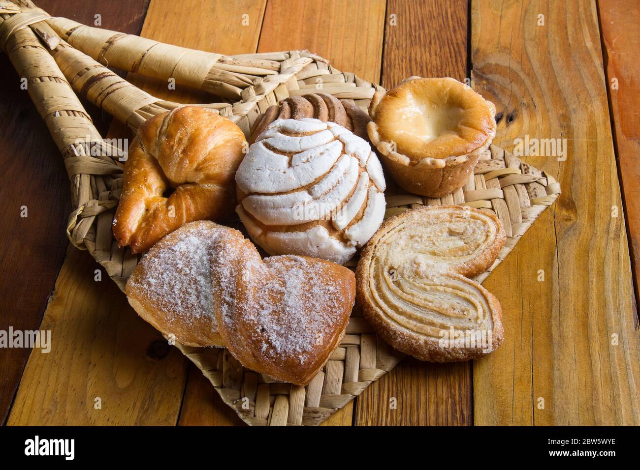
[[[636,299],[640,298],[640,8],[634,0],[598,2],[600,29],[604,42],[605,76],[618,154],[623,203],[630,235],[631,262],[636,279]]]

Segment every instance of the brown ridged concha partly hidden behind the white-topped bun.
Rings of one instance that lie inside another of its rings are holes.
[[[371,121],[369,114],[362,111],[353,100],[340,100],[328,93],[289,97],[278,105],[269,106],[267,111],[255,120],[250,132],[249,143],[254,143],[258,136],[276,119],[303,118],[335,122],[363,139],[367,139],[367,123]]]

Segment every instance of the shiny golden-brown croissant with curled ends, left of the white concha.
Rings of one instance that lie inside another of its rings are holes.
[[[211,109],[184,106],[145,121],[131,144],[113,235],[132,253],[195,220],[219,221],[236,205],[244,134]],[[164,192],[173,188],[170,196]]]

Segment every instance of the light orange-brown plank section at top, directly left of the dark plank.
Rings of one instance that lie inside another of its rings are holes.
[[[384,18],[384,0],[269,0],[258,52],[308,49],[378,83]]]

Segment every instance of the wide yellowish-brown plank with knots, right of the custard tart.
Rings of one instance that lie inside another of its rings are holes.
[[[497,106],[497,145],[568,143],[566,161],[524,158],[563,194],[484,283],[506,339],[474,363],[474,423],[638,425],[639,330],[625,222],[611,211],[621,198],[595,1],[473,0],[472,61],[474,87]]]

